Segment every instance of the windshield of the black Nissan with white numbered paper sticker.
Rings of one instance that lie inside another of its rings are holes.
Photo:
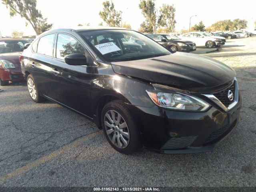
[[[89,46],[106,61],[129,61],[170,54],[154,40],[132,30],[80,32]]]

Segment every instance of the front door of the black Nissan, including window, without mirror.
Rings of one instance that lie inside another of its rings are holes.
[[[52,59],[55,72],[54,100],[91,117],[90,82],[95,66],[72,66],[64,61],[68,54],[82,53],[87,63],[93,65],[94,59],[76,37],[58,33],[56,38],[55,58]]]

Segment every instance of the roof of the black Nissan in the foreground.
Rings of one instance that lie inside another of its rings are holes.
[[[94,30],[129,30],[121,27],[108,27],[108,26],[77,26],[74,28],[58,28],[46,31],[49,32],[82,32],[82,31],[94,31]]]

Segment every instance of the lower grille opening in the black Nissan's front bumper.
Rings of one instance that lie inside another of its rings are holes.
[[[204,145],[208,144],[214,140],[217,140],[218,138],[220,138],[221,136],[224,136],[226,134],[228,134],[236,125],[236,121],[235,120],[232,125],[230,126],[230,124],[227,124],[225,126],[223,126],[222,128],[212,132],[212,134],[210,134],[210,136],[208,136],[208,138],[204,141]],[[224,134],[226,133],[226,134]],[[221,137],[222,138],[222,137]]]

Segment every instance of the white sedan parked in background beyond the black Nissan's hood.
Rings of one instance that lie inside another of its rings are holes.
[[[206,46],[212,48],[214,46],[220,47],[225,44],[225,38],[222,39],[218,36],[212,36],[206,32],[189,32],[179,36],[181,39],[193,41],[196,46]]]

